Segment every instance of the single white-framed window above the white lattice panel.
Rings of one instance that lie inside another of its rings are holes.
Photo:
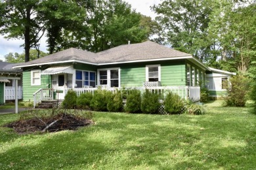
[[[161,81],[160,65],[146,65],[146,81],[148,82]]]

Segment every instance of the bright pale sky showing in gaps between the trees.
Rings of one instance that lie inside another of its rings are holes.
[[[127,3],[131,4],[131,8],[135,9],[137,12],[140,12],[143,15],[151,16],[152,18],[156,17],[156,14],[150,10],[150,7],[153,5],[157,5],[161,2],[161,0],[124,0]],[[43,52],[47,52],[47,48],[45,46],[45,37],[41,39],[40,50]],[[7,40],[3,36],[0,35],[0,59],[5,61],[4,56],[9,54],[10,52],[18,52],[18,54],[24,52],[24,47],[20,47],[21,44],[24,44],[24,40],[18,39],[10,39]]]

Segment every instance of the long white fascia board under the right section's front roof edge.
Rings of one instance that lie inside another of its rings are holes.
[[[132,61],[119,61],[112,63],[98,63],[98,65],[111,65],[111,64],[119,64],[119,63],[137,63],[137,62],[146,62],[146,61],[164,61],[164,60],[173,60],[173,59],[189,59],[193,58],[192,56],[184,56],[184,57],[176,57],[176,58],[156,58],[156,59],[139,59]]]

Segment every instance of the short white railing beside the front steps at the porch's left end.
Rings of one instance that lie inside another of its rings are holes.
[[[40,88],[33,93],[33,107],[43,100],[53,100],[53,88]]]

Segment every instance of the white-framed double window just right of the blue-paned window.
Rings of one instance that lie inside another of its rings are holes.
[[[98,69],[98,84],[119,87],[119,68]]]

